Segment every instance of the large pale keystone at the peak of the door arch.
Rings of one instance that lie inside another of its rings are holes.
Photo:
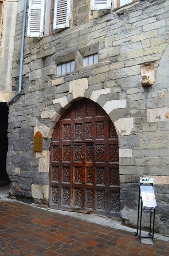
[[[69,83],[69,93],[72,93],[73,99],[83,97],[85,90],[87,90],[88,87],[88,78],[73,80]]]

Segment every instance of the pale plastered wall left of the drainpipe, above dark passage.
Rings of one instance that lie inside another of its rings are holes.
[[[17,17],[17,1],[6,0],[3,8],[3,26],[0,42],[0,102],[7,102],[11,91],[11,64],[14,52],[14,34]]]

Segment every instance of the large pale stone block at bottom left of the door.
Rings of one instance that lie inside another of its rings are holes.
[[[48,200],[48,198],[49,198],[49,185],[32,184],[32,197],[34,199]]]

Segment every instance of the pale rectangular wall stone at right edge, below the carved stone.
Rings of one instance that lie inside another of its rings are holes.
[[[147,122],[169,121],[169,108],[152,108],[147,110]]]

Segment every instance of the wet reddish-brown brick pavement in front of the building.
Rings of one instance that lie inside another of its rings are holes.
[[[169,256],[169,242],[140,244],[130,232],[16,201],[0,202],[0,256]]]

